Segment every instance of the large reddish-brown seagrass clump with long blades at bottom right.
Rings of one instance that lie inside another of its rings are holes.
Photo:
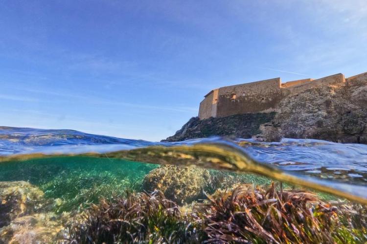
[[[312,193],[276,190],[273,183],[267,190],[240,185],[231,192],[208,198],[209,201],[198,204],[194,212],[209,242],[366,241],[366,222],[356,221],[356,211],[346,211],[345,204],[338,207],[324,203]],[[358,206],[359,211],[366,211]]]

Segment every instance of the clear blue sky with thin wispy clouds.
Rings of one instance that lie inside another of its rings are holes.
[[[212,88],[367,71],[365,0],[0,0],[0,125],[159,141]]]

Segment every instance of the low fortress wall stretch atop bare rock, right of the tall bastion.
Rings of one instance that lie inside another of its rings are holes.
[[[306,82],[301,85],[285,87],[283,89],[287,91],[285,92],[285,94],[288,95],[288,94],[300,93],[302,91],[305,91],[307,89],[310,89],[316,86],[333,85],[333,84],[338,84],[338,83],[343,83],[343,82],[345,82],[344,75],[339,73],[336,75],[326,76],[326,77],[323,77],[317,80]]]

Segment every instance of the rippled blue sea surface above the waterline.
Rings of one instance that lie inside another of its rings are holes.
[[[31,153],[53,155],[90,152],[101,153],[107,156],[110,152],[137,150],[139,148],[151,148],[152,146],[171,148],[208,144],[213,144],[218,146],[218,148],[225,148],[222,154],[226,154],[226,150],[229,148],[230,150],[236,150],[235,154],[241,155],[240,157],[250,157],[249,159],[254,162],[254,168],[263,168],[265,165],[271,165],[273,169],[277,169],[279,172],[306,181],[313,181],[309,178],[311,174],[314,178],[316,177],[315,179],[328,179],[328,182],[325,183],[328,186],[349,183],[366,187],[367,145],[361,144],[341,144],[301,139],[283,139],[281,142],[254,142],[253,140],[243,139],[228,141],[219,137],[185,142],[147,142],[92,135],[72,130],[7,129],[4,127],[0,130],[0,155],[3,156]],[[148,151],[144,152],[152,153],[152,150],[148,149]],[[195,159],[193,160],[194,162],[200,163],[195,154],[188,155],[187,157],[189,158],[187,159],[179,159],[181,156],[175,157],[177,157],[176,161],[182,160],[182,162],[189,160],[191,157]],[[149,161],[149,158],[146,158],[146,160]],[[161,163],[161,159],[156,158],[156,160],[156,162],[150,163]],[[222,167],[224,167],[224,162],[228,161],[229,157],[220,158],[218,162],[221,160],[223,161]],[[206,166],[213,166],[213,162],[211,162],[211,165],[207,164]],[[227,167],[229,164],[225,166]],[[238,165],[232,165],[232,168],[228,168],[228,170],[236,170],[236,166]],[[244,168],[244,170],[247,169]],[[257,173],[263,174],[264,172],[258,170]],[[276,171],[273,173],[275,176]],[[272,175],[269,173],[269,176]],[[348,189],[348,187],[339,188]],[[352,192],[351,190],[349,191]]]

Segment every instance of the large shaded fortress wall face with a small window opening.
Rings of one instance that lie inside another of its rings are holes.
[[[217,117],[275,111],[282,99],[280,83],[275,78],[219,88]]]

